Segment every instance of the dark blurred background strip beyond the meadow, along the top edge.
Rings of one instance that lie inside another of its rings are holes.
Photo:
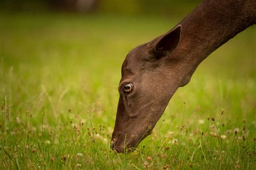
[[[113,13],[116,15],[184,15],[199,4],[199,0],[2,0],[5,11],[53,11],[79,13]]]

